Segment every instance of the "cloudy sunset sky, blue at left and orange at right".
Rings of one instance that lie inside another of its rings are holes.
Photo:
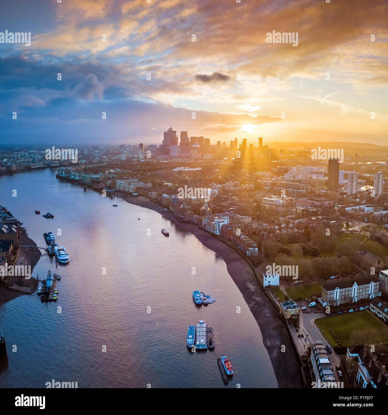
[[[4,2],[31,46],[0,44],[0,144],[388,144],[386,1],[150,1]]]

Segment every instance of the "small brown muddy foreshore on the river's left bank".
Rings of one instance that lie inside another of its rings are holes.
[[[35,265],[39,261],[39,258],[41,257],[41,251],[37,247],[37,244],[28,237],[27,231],[24,227],[22,227],[22,224],[19,222],[19,230],[20,230],[20,237],[19,237],[19,245],[33,245],[34,248],[31,250],[29,247],[19,247],[17,250],[17,256],[14,261],[14,265],[27,265],[31,266],[31,274],[34,270]],[[6,286],[4,283],[0,283],[0,308],[3,304],[8,303],[8,301],[14,300],[17,297],[20,297],[20,295],[31,295],[35,292],[38,286],[38,281],[34,280],[33,278],[29,278],[25,281],[24,287],[15,285],[15,282],[17,282],[17,277],[5,277],[6,282],[13,281],[14,285],[13,287],[18,288],[11,288]],[[23,288],[24,291],[21,291],[19,288]]]

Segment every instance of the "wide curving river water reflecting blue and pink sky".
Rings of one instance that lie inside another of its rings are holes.
[[[0,308],[8,355],[1,387],[44,388],[52,379],[78,388],[278,386],[259,326],[219,256],[159,213],[84,192],[56,172],[0,176],[0,204],[38,246],[51,231],[70,256],[58,265],[56,303],[23,295]],[[42,217],[47,211],[54,219]],[[48,270],[55,261],[42,251],[33,275]],[[197,289],[216,302],[196,306]],[[232,363],[228,386],[215,354],[186,346],[187,327],[198,320],[213,327],[215,353]]]

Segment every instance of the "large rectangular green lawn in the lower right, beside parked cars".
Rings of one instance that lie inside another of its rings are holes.
[[[347,314],[323,317],[315,320],[321,332],[334,347],[380,343],[388,339],[388,326],[371,312],[357,311]]]

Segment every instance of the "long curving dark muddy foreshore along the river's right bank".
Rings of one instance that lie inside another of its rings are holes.
[[[229,275],[242,293],[259,326],[264,347],[268,352],[278,381],[278,387],[301,388],[300,364],[286,325],[259,287],[256,277],[246,261],[234,249],[199,229],[197,225],[179,222],[173,213],[170,210],[164,210],[162,205],[144,196],[131,196],[120,191],[117,192],[117,195],[127,203],[161,213],[176,226],[192,233],[205,247],[221,256],[227,265]],[[282,346],[285,346],[286,352],[281,352]]]

